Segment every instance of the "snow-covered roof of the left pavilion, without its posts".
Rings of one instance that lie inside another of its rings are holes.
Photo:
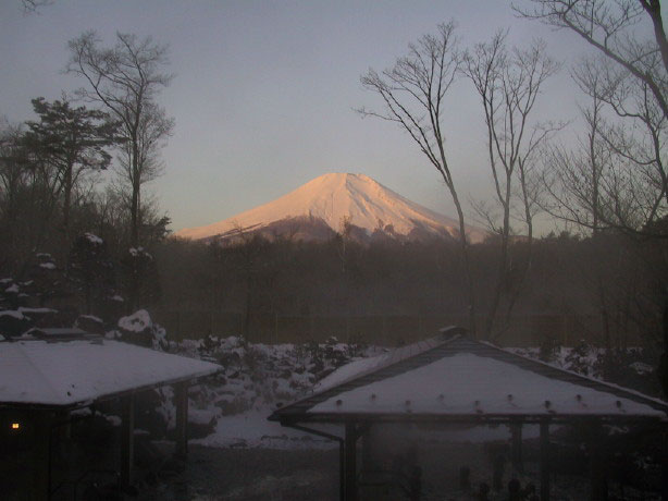
[[[0,342],[0,406],[81,406],[219,369],[208,362],[102,338],[4,341]]]

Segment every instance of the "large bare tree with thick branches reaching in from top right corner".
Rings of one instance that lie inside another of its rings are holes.
[[[601,209],[597,213],[599,220],[605,219],[605,225],[633,234],[667,236],[668,184],[663,144],[664,122],[668,119],[668,40],[660,1],[531,0],[531,3],[532,9],[514,8],[520,16],[578,34],[610,63],[598,64],[606,76],[602,100],[617,118],[605,131],[596,130],[614,159],[596,184],[604,192],[603,200],[595,199],[596,210]],[[654,37],[641,39],[639,33],[642,32],[638,25],[646,16],[652,21]],[[592,95],[591,91],[587,94]],[[586,183],[584,188],[587,188]],[[601,193],[596,192],[596,195],[601,196]],[[666,350],[668,291],[664,283],[657,289],[661,290],[656,305],[663,304]],[[661,355],[658,375],[664,393],[668,394],[666,351]]]

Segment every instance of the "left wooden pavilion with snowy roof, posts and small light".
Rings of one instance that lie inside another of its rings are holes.
[[[72,412],[121,402],[121,487],[133,479],[135,401],[148,390],[174,388],[176,455],[187,452],[187,388],[220,370],[215,364],[107,340],[81,330],[51,329],[37,339],[0,340],[0,441],[27,451],[29,485],[17,499],[50,499],[52,443]],[[16,461],[3,457],[5,461]],[[13,498],[12,498],[13,499]]]

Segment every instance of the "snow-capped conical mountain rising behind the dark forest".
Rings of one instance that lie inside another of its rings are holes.
[[[223,221],[185,228],[176,236],[234,239],[240,233],[264,236],[289,235],[297,240],[326,240],[346,225],[357,240],[459,239],[457,220],[434,212],[364,174],[329,173],[309,181],[269,204]],[[487,232],[467,227],[471,243],[482,242]]]

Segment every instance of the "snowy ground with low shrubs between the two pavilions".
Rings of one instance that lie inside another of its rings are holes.
[[[194,440],[209,447],[264,449],[329,449],[323,438],[282,427],[268,416],[282,404],[298,400],[334,369],[343,375],[364,366],[378,349],[339,343],[253,344],[240,337],[184,340],[178,353],[215,362],[223,371],[190,391],[194,424],[212,423],[212,432]],[[351,363],[350,365],[347,365]],[[336,376],[336,381],[342,376]]]

